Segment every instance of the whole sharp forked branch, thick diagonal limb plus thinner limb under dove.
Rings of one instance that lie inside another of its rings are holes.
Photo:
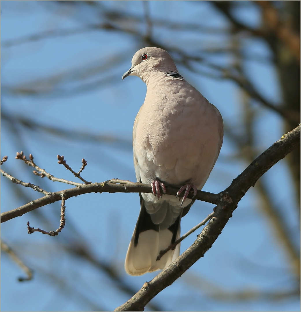
[[[203,228],[197,240],[181,256],[173,261],[165,270],[159,273],[153,280],[146,282],[143,287],[126,303],[116,308],[115,311],[143,311],[144,306],[161,290],[171,285],[187,269],[192,266],[199,258],[203,257],[205,252],[211,248],[217,237],[225,227],[232,212],[236,209],[238,202],[245,195],[251,186],[271,168],[280,159],[284,158],[291,152],[300,141],[300,125],[284,134],[281,139],[272,144],[265,152],[260,154],[237,178],[231,185],[219,194],[198,191],[195,199],[217,204],[215,214]],[[51,193],[35,201],[27,203],[17,209],[3,212],[1,222],[12,218],[22,216],[48,203],[61,200],[63,197],[68,199],[85,193],[152,193],[151,186],[143,183],[133,183],[119,179],[108,180],[103,183],[83,184],[76,188],[71,188],[55,193]],[[175,195],[177,188],[167,186],[167,194]],[[191,191],[188,195],[193,197]]]

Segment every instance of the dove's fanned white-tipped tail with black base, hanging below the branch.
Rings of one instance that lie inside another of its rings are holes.
[[[180,254],[180,244],[160,260],[156,259],[161,250],[180,237],[181,217],[182,208],[173,207],[167,201],[154,206],[141,197],[140,214],[125,258],[125,271],[130,275],[142,275],[164,269],[174,261]]]

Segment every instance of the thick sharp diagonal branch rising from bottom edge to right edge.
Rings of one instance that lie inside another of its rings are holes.
[[[300,125],[284,134],[281,139],[260,154],[231,185],[220,193],[220,202],[216,206],[215,215],[203,228],[196,241],[173,261],[165,270],[142,288],[127,302],[114,311],[143,311],[145,305],[160,291],[177,280],[198,259],[204,256],[221,234],[232,212],[247,190],[280,159],[284,158],[300,141]]]

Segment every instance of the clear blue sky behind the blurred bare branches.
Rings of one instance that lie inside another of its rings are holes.
[[[124,13],[143,16],[140,1],[106,1],[102,4]],[[152,18],[226,28],[225,18],[213,9],[210,2],[150,1],[148,5]],[[254,5],[238,7],[235,14],[250,27],[256,27],[260,20]],[[121,77],[129,69],[134,53],[142,47],[139,41],[122,32],[90,31],[5,46],[5,43],[32,34],[80,29],[102,17],[96,14],[93,7],[39,1],[2,1],[1,17],[2,111],[14,116],[26,116],[40,124],[110,138],[106,142],[79,141],[23,129],[18,134],[19,139],[15,140],[7,123],[2,122],[1,157],[8,156],[3,170],[23,181],[40,183],[47,191],[69,188],[61,183],[37,179],[31,168],[14,159],[16,152],[23,150],[26,155],[32,153],[36,163],[56,177],[75,180],[70,172],[57,163],[56,155],[60,154],[65,156],[75,171],[79,170],[81,159],[85,158],[88,165],[82,175],[89,181],[102,182],[110,178],[135,181],[132,127],[143,103],[146,86],[137,77],[124,81],[121,81]],[[145,28],[145,25],[141,27]],[[166,44],[187,47],[187,51],[189,48],[201,50],[218,47],[223,40],[227,40],[226,35],[163,31],[156,25],[153,27],[153,36]],[[270,57],[269,49],[261,41],[246,36],[243,44],[250,55],[257,54],[266,59]],[[229,62],[227,57],[210,55],[208,60],[219,65]],[[241,104],[243,95],[237,86],[229,80],[211,79],[192,73],[181,65],[177,66],[182,76],[218,107],[225,124],[239,132],[244,108]],[[279,103],[281,95],[271,62],[249,60],[243,66],[262,95],[272,103]],[[72,72],[66,75],[71,69]],[[95,85],[99,83],[99,86],[77,92],[83,83],[91,82],[95,82]],[[44,93],[32,96],[12,93],[12,87],[15,86],[42,90]],[[60,91],[66,90],[68,92],[61,92],[61,95]],[[260,154],[281,137],[282,121],[278,115],[254,101],[251,107],[256,116],[254,136]],[[220,158],[203,190],[220,192],[247,166],[235,154],[235,145],[225,137]],[[299,231],[294,210],[296,204],[285,162],[277,163],[265,174],[263,181],[267,181],[269,189],[275,193],[273,198],[277,206],[288,207],[284,218],[291,224],[292,236],[296,236]],[[1,182],[2,212],[25,203],[24,198],[13,193],[10,181],[2,177]],[[22,191],[26,191],[29,201],[39,197],[33,190]],[[255,190],[248,191],[212,248],[179,280],[163,290],[153,300],[154,303],[165,310],[299,310],[298,297],[280,301],[237,302],[217,300],[206,295],[211,289],[271,292],[277,290],[279,285],[288,290],[292,287],[286,255],[275,239],[268,220],[260,212],[257,196]],[[66,227],[58,237],[41,233],[28,235],[26,223],[30,221],[31,226],[47,230],[57,228],[59,203],[40,208],[41,213],[48,217],[48,223],[35,212],[2,223],[2,239],[35,270],[32,281],[19,283],[17,277],[23,274],[22,271],[2,252],[2,311],[113,310],[128,300],[129,294],[119,291],[95,266],[66,253],[63,248],[66,243],[72,244],[76,240],[85,244],[88,242],[95,257],[113,264],[121,278],[135,290],[156,275],[133,277],[124,272],[125,254],[138,217],[138,194],[86,194],[70,198],[66,206]],[[182,219],[182,233],[199,223],[212,209],[209,203],[196,202]],[[192,244],[197,234],[182,242],[181,252]],[[51,272],[55,272],[55,278]]]

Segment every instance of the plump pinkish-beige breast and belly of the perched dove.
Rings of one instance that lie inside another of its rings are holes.
[[[136,117],[134,157],[143,183],[205,183],[219,152],[214,106],[183,88],[147,93]]]

